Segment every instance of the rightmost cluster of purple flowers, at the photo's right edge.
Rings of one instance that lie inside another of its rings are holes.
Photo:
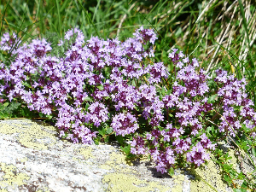
[[[253,102],[247,98],[246,80],[238,80],[234,75],[228,75],[225,71],[217,70],[215,81],[221,88],[218,90],[218,100],[223,103],[221,122],[218,126],[221,132],[230,132],[236,137],[241,125],[249,130],[255,130],[256,113],[251,106]],[[253,138],[255,133],[252,133]]]

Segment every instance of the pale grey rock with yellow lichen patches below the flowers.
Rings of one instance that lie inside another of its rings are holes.
[[[118,146],[73,144],[61,140],[54,126],[10,119],[0,121],[0,191],[233,190],[212,160],[194,175],[177,170],[170,177],[148,160],[128,163]]]

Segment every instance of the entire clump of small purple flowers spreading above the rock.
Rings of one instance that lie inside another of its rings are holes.
[[[64,57],[51,56],[45,39],[32,40],[15,48],[10,66],[1,64],[1,96],[54,117],[60,137],[73,143],[94,143],[104,132],[122,136],[131,154],[150,154],[162,173],[201,166],[217,137],[247,129],[254,138],[256,113],[246,80],[223,70],[211,79],[195,58],[177,49],[170,63],[154,62],[156,39],[153,30],[141,27],[124,42],[84,41],[75,28],[58,44],[70,43]],[[1,49],[9,50],[6,44],[14,41],[4,34]],[[176,73],[168,72],[167,64]],[[215,137],[209,127],[218,131]]]

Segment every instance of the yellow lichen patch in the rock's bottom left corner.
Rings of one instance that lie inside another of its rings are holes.
[[[25,184],[24,180],[28,180],[28,177],[25,173],[17,173],[17,168],[13,165],[7,166],[5,163],[0,163],[1,172],[4,173],[3,179],[0,180],[0,186],[5,188],[7,186],[12,186],[17,184],[18,186]]]

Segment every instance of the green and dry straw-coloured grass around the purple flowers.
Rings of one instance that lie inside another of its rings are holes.
[[[171,73],[167,55],[175,47],[198,58],[207,72],[222,67],[238,78],[246,77],[249,96],[256,102],[256,7],[246,0],[1,0],[0,22],[0,36],[17,32],[23,42],[47,38],[53,46],[74,26],[79,26],[87,38],[118,36],[120,40],[131,37],[139,26],[154,28],[159,38],[156,59],[164,61]],[[0,53],[0,61],[8,62],[9,55]],[[242,148],[244,151],[254,150],[256,154],[255,141],[241,140],[249,146]],[[217,156],[222,158],[224,154],[219,152]],[[226,165],[227,160],[221,158],[218,162]],[[233,174],[223,169],[228,173],[225,175]],[[256,184],[246,176],[233,175],[226,177],[232,187],[236,188],[232,184],[236,176],[247,181],[242,187],[256,190]]]

